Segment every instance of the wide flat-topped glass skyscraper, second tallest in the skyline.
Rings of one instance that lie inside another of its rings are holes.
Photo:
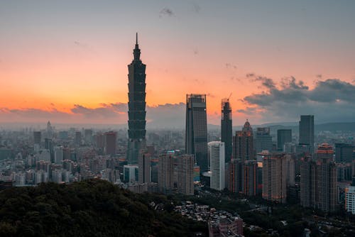
[[[208,170],[206,95],[186,95],[185,151],[195,155],[200,171]]]

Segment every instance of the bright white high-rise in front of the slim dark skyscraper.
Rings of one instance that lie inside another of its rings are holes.
[[[223,190],[225,186],[224,143],[212,141],[208,145],[209,167],[212,172],[210,188]]]

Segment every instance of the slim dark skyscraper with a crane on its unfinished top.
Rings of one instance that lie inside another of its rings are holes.
[[[221,141],[224,142],[225,162],[229,162],[231,160],[233,143],[231,104],[229,103],[229,99],[222,99]]]

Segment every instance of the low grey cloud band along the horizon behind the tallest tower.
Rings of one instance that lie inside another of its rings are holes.
[[[183,128],[185,104],[158,104],[146,106],[147,128]],[[110,123],[124,124],[128,120],[126,103],[102,103],[96,108],[75,104],[70,111],[57,109],[9,109],[0,108],[0,122],[21,123]]]

